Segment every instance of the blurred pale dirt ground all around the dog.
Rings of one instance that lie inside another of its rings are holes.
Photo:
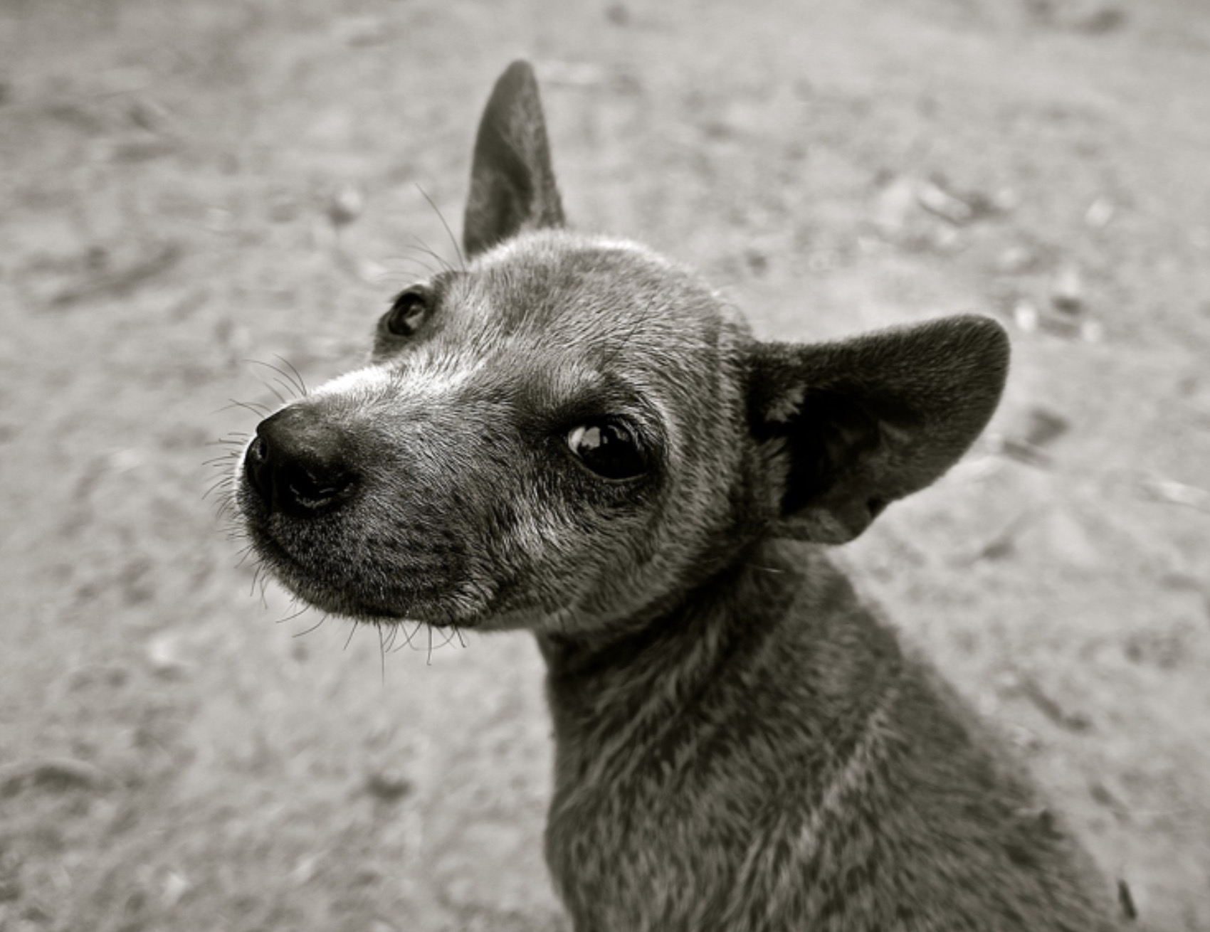
[[[564,930],[522,635],[380,652],[236,566],[223,436],[453,256],[496,74],[574,221],[761,335],[1014,338],[843,550],[1143,924],[1210,930],[1210,6],[0,0],[0,930]],[[286,619],[278,624],[280,619]]]

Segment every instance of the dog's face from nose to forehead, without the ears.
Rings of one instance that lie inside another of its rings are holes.
[[[747,342],[641,247],[528,233],[403,291],[370,365],[266,419],[240,509],[330,612],[599,626],[734,523]]]

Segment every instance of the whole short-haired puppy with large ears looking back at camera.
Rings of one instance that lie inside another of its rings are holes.
[[[828,549],[979,435],[981,317],[761,342],[692,271],[565,228],[534,73],[474,144],[461,268],[257,428],[255,552],[327,612],[528,629],[576,932],[1118,927],[1090,859]]]

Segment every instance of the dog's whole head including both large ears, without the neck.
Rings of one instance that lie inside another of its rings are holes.
[[[240,463],[255,550],[304,600],[607,630],[762,534],[855,537],[996,406],[990,320],[761,343],[688,271],[563,222],[515,63],[479,127],[468,265],[401,293],[369,364],[263,421]]]

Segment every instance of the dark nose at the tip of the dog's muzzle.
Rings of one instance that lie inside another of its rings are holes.
[[[312,517],[352,496],[350,438],[321,411],[292,405],[257,427],[243,458],[248,485],[270,511]]]

